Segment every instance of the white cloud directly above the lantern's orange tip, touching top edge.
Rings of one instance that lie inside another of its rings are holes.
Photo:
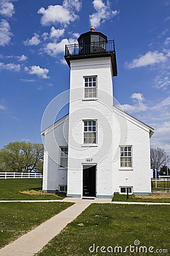
[[[91,26],[99,27],[101,22],[105,22],[119,13],[117,10],[111,9],[109,1],[104,3],[102,0],[94,0],[92,4],[96,12],[89,15]]]

